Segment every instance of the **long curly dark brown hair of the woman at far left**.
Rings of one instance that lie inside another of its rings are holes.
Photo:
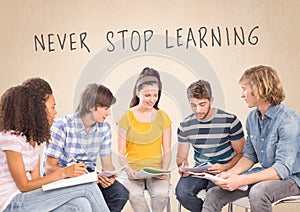
[[[0,131],[25,135],[38,145],[50,139],[45,100],[29,86],[9,88],[0,100]]]

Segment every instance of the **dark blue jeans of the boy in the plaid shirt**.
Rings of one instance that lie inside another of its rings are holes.
[[[117,180],[109,186],[108,188],[102,188],[98,184],[106,204],[111,212],[120,212],[125,206],[127,200],[129,199],[129,192],[121,183]]]

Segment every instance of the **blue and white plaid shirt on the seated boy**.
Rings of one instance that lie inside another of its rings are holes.
[[[78,113],[55,120],[51,127],[47,156],[59,159],[60,167],[73,164],[74,157],[95,168],[98,154],[101,157],[111,154],[109,123],[95,123],[87,132]]]

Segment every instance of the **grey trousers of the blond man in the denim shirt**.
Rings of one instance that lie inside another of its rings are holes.
[[[272,203],[287,196],[300,194],[300,188],[293,179],[267,180],[256,183],[247,191],[225,191],[216,186],[206,194],[202,212],[219,212],[229,202],[248,196],[251,212],[271,212]]]

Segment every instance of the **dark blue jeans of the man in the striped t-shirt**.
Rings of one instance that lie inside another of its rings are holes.
[[[202,190],[215,186],[211,181],[192,176],[180,177],[176,186],[176,197],[180,204],[189,211],[201,211],[203,200],[197,197]]]

